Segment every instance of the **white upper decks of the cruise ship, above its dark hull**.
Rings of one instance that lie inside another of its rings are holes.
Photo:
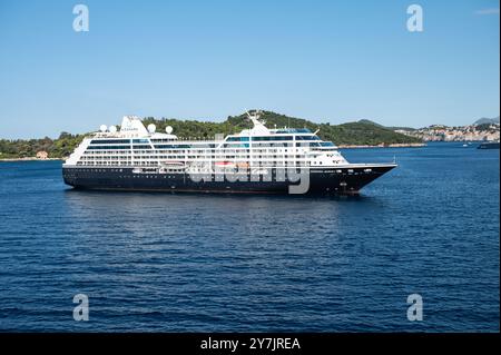
[[[165,161],[185,164],[248,161],[249,165],[314,166],[344,164],[346,160],[331,141],[322,140],[307,128],[268,129],[249,115],[254,127],[215,139],[183,139],[167,127],[157,132],[137,117],[124,117],[120,130],[101,126],[101,131],[84,139],[66,165],[158,166]]]

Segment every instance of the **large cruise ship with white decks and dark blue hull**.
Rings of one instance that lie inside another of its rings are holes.
[[[306,128],[269,129],[259,111],[253,128],[214,140],[157,132],[135,116],[119,129],[102,125],[62,165],[79,189],[353,195],[396,164],[350,164],[332,141]]]

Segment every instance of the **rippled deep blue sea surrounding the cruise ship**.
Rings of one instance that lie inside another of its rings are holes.
[[[0,331],[499,332],[499,150],[343,154],[400,166],[307,198],[76,191],[59,161],[1,162]]]

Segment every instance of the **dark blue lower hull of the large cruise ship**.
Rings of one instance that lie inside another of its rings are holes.
[[[362,187],[395,167],[389,165],[353,165],[336,168],[312,168],[303,181],[281,179],[277,171],[252,180],[248,176],[228,181],[225,176],[202,180],[200,176],[186,172],[134,172],[132,168],[63,167],[65,183],[79,189],[189,191],[189,193],[243,193],[243,194],[357,194]],[[302,184],[302,185],[301,185]]]

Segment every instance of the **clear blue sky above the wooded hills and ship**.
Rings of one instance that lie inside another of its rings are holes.
[[[75,32],[72,8],[89,8]],[[409,32],[409,4],[424,31]],[[499,1],[0,0],[0,137],[124,115],[465,125],[499,115]]]

